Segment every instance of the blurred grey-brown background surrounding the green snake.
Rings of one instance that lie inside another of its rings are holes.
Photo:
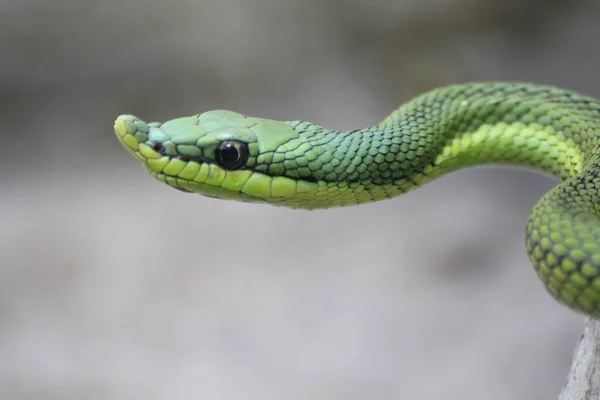
[[[331,128],[440,85],[600,96],[600,3],[0,1],[0,398],[550,399],[583,317],[525,254],[556,181],[478,168],[302,212],[187,195],[112,132]]]

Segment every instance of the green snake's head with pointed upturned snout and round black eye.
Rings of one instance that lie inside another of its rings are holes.
[[[114,130],[150,175],[184,192],[277,203],[315,185],[269,170],[275,152],[299,140],[286,122],[216,110],[165,123],[121,115]]]

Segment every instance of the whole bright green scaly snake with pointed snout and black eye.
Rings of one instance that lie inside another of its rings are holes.
[[[389,199],[459,168],[526,166],[562,180],[525,230],[537,275],[560,303],[600,316],[600,102],[560,88],[475,82],[431,90],[350,131],[215,110],[114,126],[146,171],[221,199],[324,209]]]

